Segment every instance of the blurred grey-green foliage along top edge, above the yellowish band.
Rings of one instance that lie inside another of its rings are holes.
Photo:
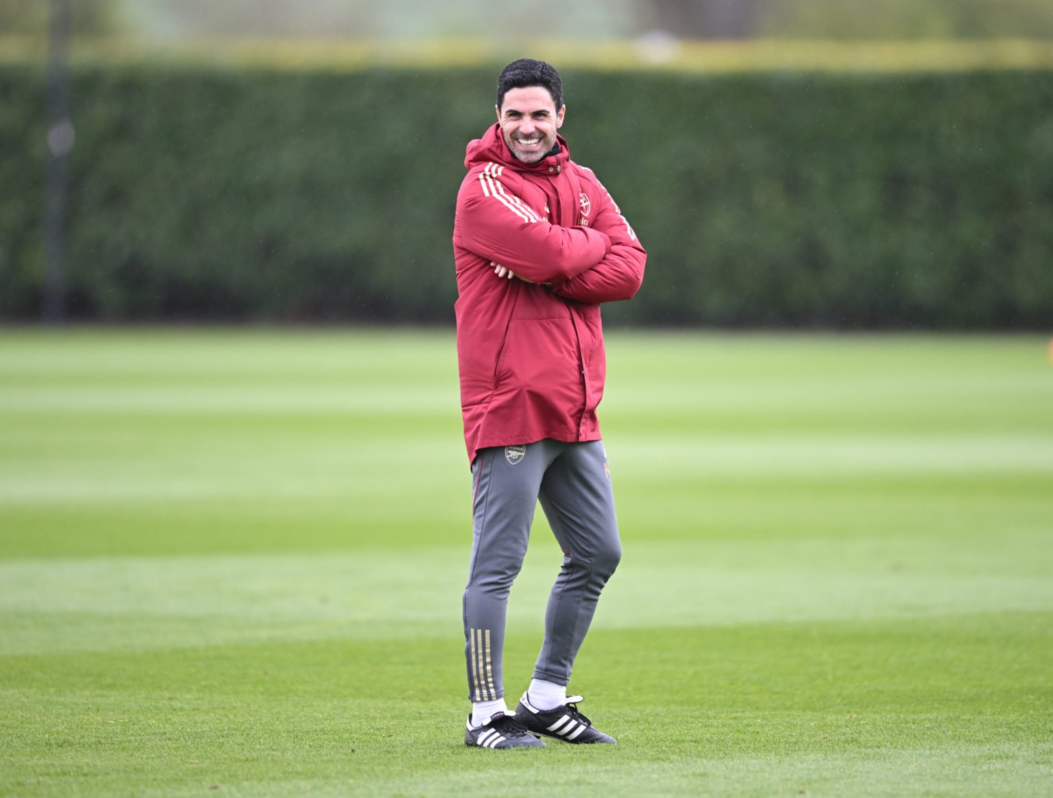
[[[1053,38],[1050,0],[72,0],[116,8],[127,31],[155,42],[215,37],[394,40],[481,36],[521,42],[538,20],[579,41],[665,31],[682,39]],[[43,0],[0,0],[38,8]],[[108,12],[107,12],[108,13]],[[113,17],[113,14],[110,13]],[[0,18],[2,19],[2,18]],[[0,29],[4,29],[0,25]],[[16,31],[12,31],[16,32]]]

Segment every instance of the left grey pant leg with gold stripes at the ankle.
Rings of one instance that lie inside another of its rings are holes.
[[[521,451],[520,451],[521,450]],[[512,582],[522,567],[553,441],[481,450],[472,464],[472,558],[464,587],[464,659],[469,700],[504,695],[504,618]]]

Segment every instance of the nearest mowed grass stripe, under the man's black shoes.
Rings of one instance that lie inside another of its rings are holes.
[[[449,734],[445,693],[460,674],[436,673],[448,646],[433,640],[11,658],[24,686],[5,695],[0,731],[13,732],[11,751],[28,767],[11,783],[31,793],[185,795],[219,783],[254,795],[304,785],[440,795],[475,777],[509,779],[509,792],[524,795],[571,767],[618,795],[782,794],[788,784],[819,795],[914,794],[919,784],[1034,795],[1053,745],[1044,734],[1050,677],[1031,642],[1049,641],[1050,620],[601,632],[579,666],[590,700],[624,730],[619,745],[554,745],[529,758],[480,757]],[[510,663],[528,664],[536,642],[513,635]],[[48,678],[56,671],[60,687]],[[377,690],[397,695],[378,701]],[[687,706],[656,702],[663,695]]]

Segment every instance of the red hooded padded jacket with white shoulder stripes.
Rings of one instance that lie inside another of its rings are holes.
[[[647,253],[596,176],[558,141],[556,155],[534,164],[512,156],[497,124],[468,145],[454,307],[469,461],[486,446],[600,437],[599,303],[637,292]],[[498,277],[491,261],[534,284]]]

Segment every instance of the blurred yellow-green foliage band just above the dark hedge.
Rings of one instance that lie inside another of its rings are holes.
[[[762,39],[735,42],[678,41],[665,36],[580,42],[532,39],[509,44],[483,38],[405,41],[307,41],[236,39],[183,42],[163,48],[120,39],[72,42],[75,62],[85,66],[216,66],[322,72],[367,67],[500,69],[531,54],[568,67],[590,71],[663,72],[958,72],[1053,68],[1053,45],[1039,39],[986,41],[803,41]],[[24,37],[0,38],[0,63],[39,59],[42,51]],[[496,74],[496,73],[495,73]]]

